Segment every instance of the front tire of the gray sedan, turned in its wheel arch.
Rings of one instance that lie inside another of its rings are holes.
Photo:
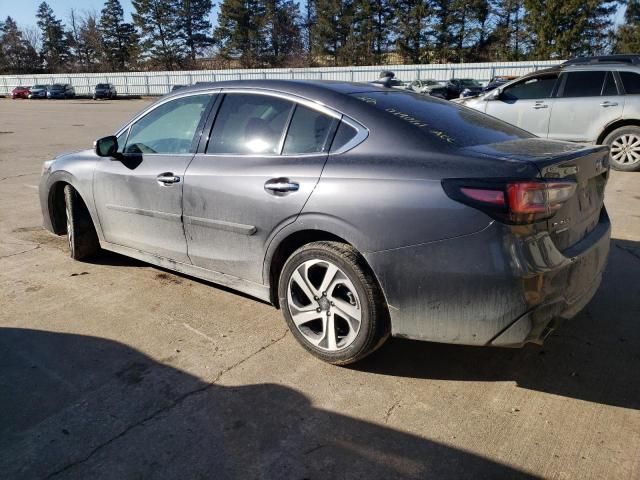
[[[71,185],[64,187],[64,203],[69,255],[74,260],[83,260],[96,255],[100,251],[98,234],[87,206]]]

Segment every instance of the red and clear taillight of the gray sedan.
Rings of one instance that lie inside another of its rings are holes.
[[[549,218],[569,200],[575,182],[448,179],[449,197],[478,208],[505,223],[534,223]]]

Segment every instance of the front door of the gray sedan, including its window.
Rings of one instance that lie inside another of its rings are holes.
[[[189,262],[182,226],[184,173],[211,98],[197,94],[160,104],[119,137],[121,160],[100,159],[93,190],[107,242]]]

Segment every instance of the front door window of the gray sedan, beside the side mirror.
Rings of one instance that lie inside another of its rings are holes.
[[[192,95],[160,105],[131,126],[125,153],[190,153],[210,95]]]

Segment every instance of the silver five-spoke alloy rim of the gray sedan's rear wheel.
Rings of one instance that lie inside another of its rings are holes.
[[[356,339],[362,305],[347,274],[327,260],[300,264],[289,279],[287,303],[294,325],[313,346],[347,348]]]

